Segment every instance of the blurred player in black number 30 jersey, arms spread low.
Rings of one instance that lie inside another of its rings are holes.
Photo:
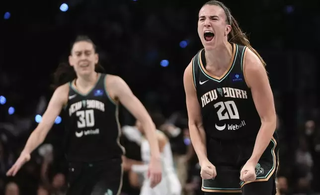
[[[161,180],[160,151],[155,124],[145,107],[120,77],[95,71],[98,54],[88,37],[76,39],[69,63],[71,66],[68,67],[72,68],[59,67],[56,76],[74,78],[55,90],[42,121],[31,133],[20,157],[6,175],[16,175],[21,166],[30,160],[31,152],[44,141],[64,108],[70,185],[67,195],[119,195],[124,149],[119,144],[118,106],[122,103],[146,129],[152,153],[148,173],[151,187],[155,187]]]

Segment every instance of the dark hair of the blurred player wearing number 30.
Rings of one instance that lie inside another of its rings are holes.
[[[96,52],[96,46],[93,43],[93,41],[88,36],[79,35],[77,36],[76,40],[71,44],[70,53],[72,52],[74,44],[80,41],[91,43],[93,46],[94,52]],[[95,65],[95,72],[99,72],[99,73],[105,72],[104,68],[101,66],[99,62]],[[52,88],[57,89],[59,86],[64,85],[65,83],[71,82],[74,79],[76,79],[77,74],[75,72],[75,69],[72,66],[70,66],[68,62],[63,62],[59,64],[58,68],[53,74],[53,77],[54,78],[53,78]]]

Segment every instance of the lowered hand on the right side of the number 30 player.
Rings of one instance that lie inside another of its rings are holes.
[[[161,159],[151,157],[148,170],[148,178],[150,178],[150,187],[154,188],[161,182],[162,168]]]

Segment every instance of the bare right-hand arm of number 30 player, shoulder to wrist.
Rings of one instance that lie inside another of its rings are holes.
[[[118,99],[139,120],[149,141],[152,157],[160,159],[159,144],[157,141],[156,126],[140,100],[132,93],[129,86],[120,78],[108,75],[107,89],[110,89],[111,98]]]

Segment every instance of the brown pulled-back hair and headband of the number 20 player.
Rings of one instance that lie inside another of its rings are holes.
[[[260,59],[262,64],[265,66],[266,63],[264,62],[262,57],[259,55],[259,53],[255,49],[252,48],[248,37],[245,35],[244,32],[242,32],[242,30],[239,27],[239,24],[238,24],[237,20],[234,18],[234,16],[231,15],[230,9],[225,4],[223,4],[222,2],[220,2],[218,0],[210,0],[206,3],[204,3],[203,6],[205,6],[205,5],[218,5],[225,10],[225,13],[227,16],[226,23],[231,25],[231,31],[228,34],[228,41],[239,44],[239,45],[247,46],[255,55],[258,56],[258,58]]]

